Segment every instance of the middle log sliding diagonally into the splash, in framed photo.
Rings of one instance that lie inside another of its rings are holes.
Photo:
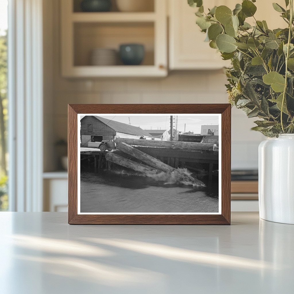
[[[144,140],[144,141],[146,141],[146,140]],[[121,142],[121,143],[117,144],[116,148],[118,150],[121,150],[121,151],[127,153],[130,156],[133,156],[133,157],[147,163],[148,165],[150,165],[156,169],[159,169],[160,171],[165,171],[166,173],[171,173],[175,170],[171,166],[163,163],[162,161],[160,161],[160,160],[158,160],[158,159],[156,159],[156,158],[126,144],[126,143]]]

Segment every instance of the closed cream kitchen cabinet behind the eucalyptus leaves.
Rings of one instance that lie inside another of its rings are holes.
[[[203,0],[205,11],[214,6],[226,5],[230,9],[235,8],[237,0]],[[275,1],[285,6],[284,0]],[[286,23],[273,9],[272,3],[267,0],[255,2],[257,12],[256,19],[266,20],[270,29],[285,27]],[[185,0],[169,0],[169,68],[170,70],[204,70],[220,69],[230,66],[230,61],[224,61],[220,53],[210,48],[208,42],[204,42],[205,34],[201,33],[196,25],[195,12],[198,8],[190,7]],[[253,23],[254,19],[247,18],[247,22]]]

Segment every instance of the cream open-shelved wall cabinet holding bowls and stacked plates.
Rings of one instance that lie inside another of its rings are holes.
[[[153,0],[153,11],[83,12],[79,0],[61,1],[61,72],[63,77],[146,77],[166,76],[166,1]],[[92,65],[96,48],[115,49],[120,44],[145,47],[141,65]]]

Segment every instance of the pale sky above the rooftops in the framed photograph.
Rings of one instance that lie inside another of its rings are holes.
[[[138,126],[142,129],[152,129],[152,130],[165,130],[170,129],[170,116],[120,116],[120,115],[112,115],[105,116],[101,115],[103,118],[111,119],[113,121],[119,121],[121,123],[129,124],[129,118],[132,126]],[[82,118],[82,116],[81,116]],[[186,123],[186,132],[191,131],[194,133],[200,133],[201,125],[218,125],[218,116],[217,115],[187,115],[187,116],[174,116],[174,118],[178,118],[178,127],[177,130],[180,132],[184,132],[185,123]]]

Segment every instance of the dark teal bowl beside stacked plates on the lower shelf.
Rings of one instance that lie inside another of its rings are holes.
[[[122,44],[119,55],[124,65],[140,65],[145,57],[145,48],[142,44]]]

